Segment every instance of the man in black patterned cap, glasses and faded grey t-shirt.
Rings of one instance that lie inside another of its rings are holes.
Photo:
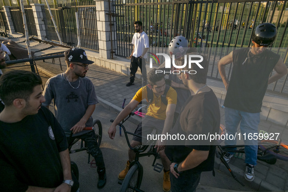
[[[86,76],[88,65],[94,63],[88,60],[83,49],[69,49],[65,52],[67,70],[48,79],[43,95],[44,106],[49,107],[54,99],[54,111],[57,120],[65,132],[73,132],[73,138],[85,141],[89,152],[95,158],[98,183],[103,188],[106,184],[105,164],[102,152],[97,144],[94,131],[83,131],[85,127],[93,126],[92,114],[98,103],[94,85]],[[72,112],[72,113],[71,113]],[[73,141],[70,141],[73,142]]]

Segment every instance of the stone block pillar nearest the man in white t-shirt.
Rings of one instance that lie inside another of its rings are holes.
[[[97,35],[98,35],[98,43],[99,43],[99,57],[101,58],[112,58],[111,52],[116,50],[116,47],[111,46],[111,42],[113,42],[113,46],[117,45],[115,43],[116,39],[116,31],[111,32],[110,28],[110,19],[109,19],[109,0],[95,0],[96,2],[96,17],[97,17]],[[115,13],[115,8],[112,6],[113,0],[110,0],[111,3],[111,13]],[[107,14],[106,14],[107,13]],[[112,20],[113,17],[111,16]],[[115,25],[115,22],[111,22]],[[114,29],[114,27],[112,28]],[[112,38],[111,38],[112,33]],[[113,54],[115,55],[115,53]]]

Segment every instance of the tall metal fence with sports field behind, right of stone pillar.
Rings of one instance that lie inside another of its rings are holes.
[[[217,60],[227,55],[231,48],[249,47],[255,26],[271,22],[277,27],[277,38],[272,47],[281,47],[277,53],[288,66],[288,1],[239,1],[143,0],[135,3],[134,0],[116,0],[116,55],[130,56],[134,21],[140,20],[150,39],[150,51],[167,50],[162,47],[167,47],[173,37],[182,35],[188,39],[190,47],[208,54],[211,62],[209,77],[221,80]],[[287,76],[283,77],[279,80],[281,83],[274,83],[269,89],[288,94],[286,79]]]

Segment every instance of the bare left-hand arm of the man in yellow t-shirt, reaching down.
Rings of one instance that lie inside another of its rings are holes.
[[[113,121],[113,123],[111,124],[108,130],[108,134],[111,139],[114,139],[114,136],[116,133],[116,125],[118,125],[120,121],[122,121],[127,115],[129,115],[135,109],[135,107],[137,107],[138,104],[139,104],[138,101],[136,101],[135,99],[132,99],[130,103],[115,118],[115,120]]]

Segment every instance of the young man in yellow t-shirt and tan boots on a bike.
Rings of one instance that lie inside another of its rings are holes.
[[[148,85],[137,91],[131,102],[120,112],[120,114],[116,117],[110,126],[108,134],[111,139],[114,139],[116,133],[116,125],[127,115],[129,115],[141,100],[146,99],[148,101],[147,89],[151,89],[153,91],[153,100],[149,103],[150,105],[148,111],[142,122],[139,123],[137,129],[135,130],[135,134],[139,134],[145,137],[147,134],[151,134],[153,129],[156,129],[158,134],[166,134],[170,131],[177,103],[177,93],[172,87],[169,87],[169,90],[166,94],[167,105],[165,105],[161,99],[161,95],[164,94],[166,87],[164,74],[156,74],[156,69],[153,69],[148,73],[147,79]],[[133,136],[132,142],[130,144],[132,147],[135,147],[141,145],[141,143],[141,137]],[[157,147],[157,152],[159,152],[164,167],[163,190],[168,192],[171,188],[169,177],[171,162],[164,153],[165,145],[160,143],[160,141],[157,141],[155,146]],[[128,151],[128,155],[129,160],[127,161],[125,170],[119,173],[119,179],[125,178],[129,171],[130,162],[132,162],[135,158],[135,153],[130,149]]]

